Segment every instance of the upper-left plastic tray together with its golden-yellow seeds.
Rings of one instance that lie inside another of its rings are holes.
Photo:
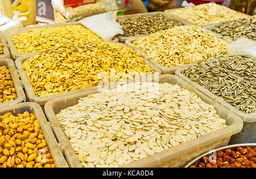
[[[77,43],[88,39],[100,40],[101,37],[84,27],[79,22],[37,25],[10,29],[6,32],[6,40],[14,59],[27,55],[35,55],[41,50],[61,43]],[[113,39],[117,42],[118,39]]]

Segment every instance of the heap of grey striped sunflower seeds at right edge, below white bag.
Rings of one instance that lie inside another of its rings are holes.
[[[255,112],[255,59],[243,56],[213,58],[189,67],[184,75],[243,113]]]

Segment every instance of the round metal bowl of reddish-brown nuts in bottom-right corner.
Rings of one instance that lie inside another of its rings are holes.
[[[184,168],[254,168],[256,143],[241,143],[210,150],[190,161]]]

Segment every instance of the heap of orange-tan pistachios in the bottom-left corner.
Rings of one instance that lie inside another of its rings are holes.
[[[0,116],[1,168],[55,168],[34,114]]]

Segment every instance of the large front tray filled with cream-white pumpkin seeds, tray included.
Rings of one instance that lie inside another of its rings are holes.
[[[159,83],[48,101],[46,116],[67,146],[69,167],[181,167],[242,129],[238,116],[221,104],[209,105],[207,96],[177,76],[160,75]]]

